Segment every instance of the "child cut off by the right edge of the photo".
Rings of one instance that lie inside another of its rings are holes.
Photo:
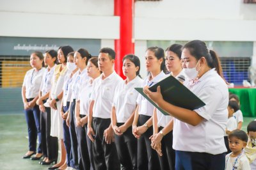
[[[250,162],[251,169],[256,169],[256,121],[251,121],[247,126],[249,140],[244,153]]]

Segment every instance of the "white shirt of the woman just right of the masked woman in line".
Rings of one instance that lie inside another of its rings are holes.
[[[78,98],[81,91],[81,86],[87,79],[89,79],[89,77],[86,68],[84,68],[82,72],[76,72],[76,77],[74,77],[74,80],[72,81],[71,101]]]

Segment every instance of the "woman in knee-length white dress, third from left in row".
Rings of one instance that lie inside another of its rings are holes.
[[[61,99],[63,97],[63,82],[65,75],[67,74],[67,55],[72,51],[74,50],[69,45],[61,46],[58,49],[58,62],[60,65],[56,66],[54,75],[52,76],[52,88],[48,99],[49,106],[51,107],[51,136],[60,139],[61,159],[58,164],[55,164],[48,169],[57,169],[65,164],[66,151],[63,143],[63,121],[60,114],[60,107]]]

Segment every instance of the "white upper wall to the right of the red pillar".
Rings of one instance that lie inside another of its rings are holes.
[[[136,40],[256,40],[256,5],[243,0],[139,1],[135,13]]]

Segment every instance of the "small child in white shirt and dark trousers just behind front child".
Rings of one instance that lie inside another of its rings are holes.
[[[226,127],[226,135],[224,136],[225,145],[227,147],[227,154],[231,152],[228,147],[228,135],[237,128],[236,118],[234,118],[233,114],[239,109],[237,102],[229,101],[228,102],[228,121]]]

